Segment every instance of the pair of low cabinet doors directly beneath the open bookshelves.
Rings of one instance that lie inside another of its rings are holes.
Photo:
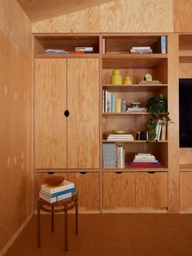
[[[167,212],[168,173],[103,173],[103,212]]]

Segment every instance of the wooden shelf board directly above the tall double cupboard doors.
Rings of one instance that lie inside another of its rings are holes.
[[[68,54],[36,54],[35,59],[41,58],[41,59],[66,59],[66,58],[99,58],[100,55],[97,53],[85,53],[85,54],[76,54],[74,53],[68,53]]]

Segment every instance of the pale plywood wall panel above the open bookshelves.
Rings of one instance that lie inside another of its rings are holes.
[[[101,32],[172,32],[172,0],[116,0],[101,6]]]

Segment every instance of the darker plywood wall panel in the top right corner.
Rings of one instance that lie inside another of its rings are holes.
[[[192,32],[192,1],[174,0],[174,32]]]

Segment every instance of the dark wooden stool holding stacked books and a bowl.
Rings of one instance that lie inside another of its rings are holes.
[[[47,208],[45,208],[45,206]],[[58,209],[59,206],[59,209]],[[50,204],[49,202],[39,198],[37,201],[37,247],[41,247],[41,227],[40,215],[41,210],[51,213],[51,232],[54,232],[54,214],[64,212],[65,219],[65,250],[68,250],[68,210],[76,207],[76,235],[78,233],[78,195],[69,197],[62,201]]]

